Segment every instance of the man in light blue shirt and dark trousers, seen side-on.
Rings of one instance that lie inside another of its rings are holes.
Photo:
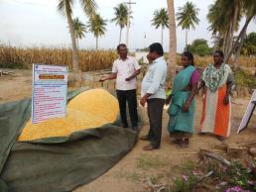
[[[167,77],[167,62],[161,44],[155,43],[149,47],[149,70],[141,84],[142,106],[148,104],[150,131],[141,140],[149,141],[144,150],[153,150],[160,147],[162,136],[162,117],[166,101],[165,82]]]

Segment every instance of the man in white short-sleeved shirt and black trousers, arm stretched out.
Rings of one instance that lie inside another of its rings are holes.
[[[124,128],[128,128],[126,117],[126,101],[128,102],[129,114],[132,123],[132,129],[138,130],[138,112],[137,112],[137,80],[136,76],[140,74],[140,65],[135,57],[128,55],[126,45],[121,44],[117,47],[119,58],[117,58],[112,67],[112,74],[108,77],[100,78],[100,81],[116,79],[116,95],[119,103],[121,120]]]

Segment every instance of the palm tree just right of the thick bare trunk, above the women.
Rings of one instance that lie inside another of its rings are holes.
[[[176,14],[179,21],[178,26],[181,26],[183,30],[186,30],[186,49],[188,47],[188,31],[195,29],[195,25],[199,23],[197,18],[199,9],[195,7],[192,2],[187,2],[184,7],[179,8],[179,12]]]

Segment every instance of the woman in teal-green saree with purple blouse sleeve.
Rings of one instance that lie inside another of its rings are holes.
[[[184,68],[176,75],[172,94],[167,98],[170,117],[168,131],[175,137],[175,144],[188,146],[194,127],[195,99],[199,72],[193,66],[193,56],[189,51],[182,55]]]

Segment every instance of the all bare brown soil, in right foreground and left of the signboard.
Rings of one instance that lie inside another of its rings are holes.
[[[0,103],[16,101],[31,97],[32,76],[28,70],[13,70],[15,76],[0,76]],[[248,128],[236,135],[249,99],[237,99],[232,104],[231,137],[227,144],[249,144],[256,142],[256,115],[254,113]],[[148,132],[146,110],[143,110],[145,126],[141,135]],[[197,100],[195,128],[199,127],[201,101]],[[168,184],[179,174],[181,166],[192,160],[196,161],[200,148],[214,150],[221,144],[214,137],[194,135],[190,147],[180,148],[170,142],[166,126],[167,112],[164,111],[163,136],[161,148],[154,151],[143,151],[147,142],[139,141],[135,147],[115,166],[94,181],[80,186],[74,192],[142,192],[147,190],[144,180],[150,177],[156,183]]]

